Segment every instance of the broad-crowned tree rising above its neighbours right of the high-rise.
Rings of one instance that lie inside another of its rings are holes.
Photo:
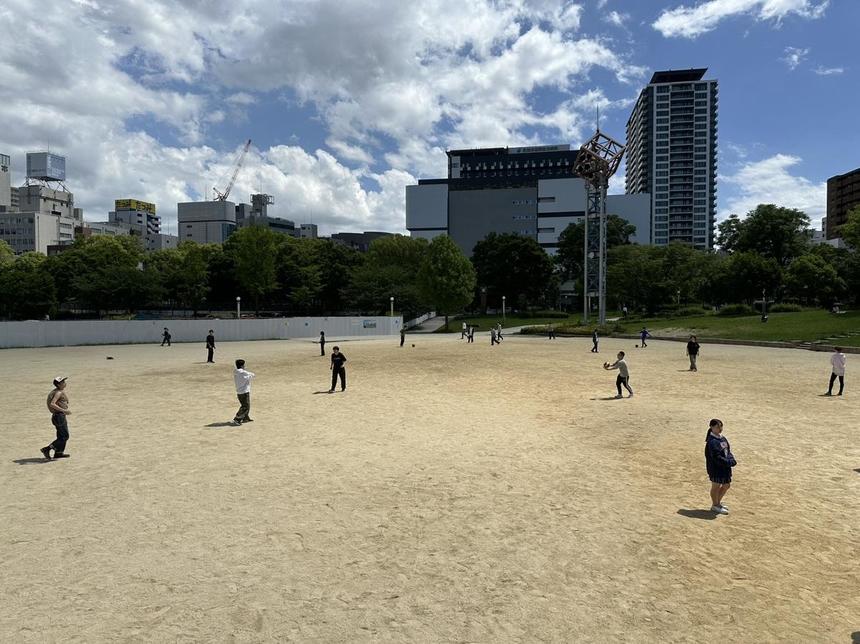
[[[809,249],[812,238],[805,213],[773,204],[756,206],[737,227],[735,250],[770,257],[783,268]]]

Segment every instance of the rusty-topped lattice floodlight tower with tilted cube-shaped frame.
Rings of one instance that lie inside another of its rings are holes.
[[[618,170],[624,145],[597,133],[579,149],[573,171],[585,179],[588,206],[585,213],[583,268],[583,324],[588,324],[590,298],[598,298],[598,322],[606,323],[606,190]]]

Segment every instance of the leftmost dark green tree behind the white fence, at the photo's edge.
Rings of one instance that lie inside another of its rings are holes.
[[[57,290],[41,253],[25,253],[0,264],[0,315],[41,319],[57,306]]]

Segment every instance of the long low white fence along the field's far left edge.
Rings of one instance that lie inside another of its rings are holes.
[[[263,320],[86,320],[0,322],[0,348],[161,342],[164,327],[173,342],[203,342],[209,329],[217,341],[396,335],[399,316],[269,318]]]

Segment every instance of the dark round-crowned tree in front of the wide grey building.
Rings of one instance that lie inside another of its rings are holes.
[[[475,244],[472,264],[478,284],[491,302],[501,306],[502,296],[521,307],[543,301],[553,264],[532,237],[490,233]]]

